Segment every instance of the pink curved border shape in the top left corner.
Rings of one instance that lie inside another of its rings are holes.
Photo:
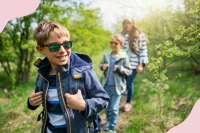
[[[5,25],[13,18],[33,13],[40,0],[1,0],[0,1],[0,33]]]

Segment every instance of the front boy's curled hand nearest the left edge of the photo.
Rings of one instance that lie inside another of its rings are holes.
[[[42,103],[42,91],[40,92],[33,92],[29,98],[28,101],[30,103],[31,106],[39,106]]]

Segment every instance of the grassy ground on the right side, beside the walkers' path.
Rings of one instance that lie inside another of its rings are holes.
[[[137,75],[135,81],[135,93],[133,97],[134,111],[130,115],[131,121],[125,129],[125,133],[164,133],[170,128],[184,121],[199,99],[199,79],[200,75],[194,75],[193,71],[178,71],[174,68],[168,69],[166,82],[169,89],[162,97],[163,113],[158,113],[157,94],[152,93],[151,88],[141,82],[142,79],[151,78],[151,73],[145,70],[144,73]],[[184,70],[186,68],[183,68]],[[176,78],[181,72],[182,77]]]

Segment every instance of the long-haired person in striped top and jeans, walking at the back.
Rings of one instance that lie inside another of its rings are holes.
[[[138,72],[148,64],[146,35],[139,30],[133,19],[125,19],[122,22],[122,35],[125,37],[123,49],[127,52],[132,67],[132,74],[127,77],[127,99],[124,111],[130,111],[132,108],[132,97],[134,93],[134,80]]]

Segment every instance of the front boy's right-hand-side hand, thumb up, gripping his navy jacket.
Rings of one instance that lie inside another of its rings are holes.
[[[85,110],[85,101],[82,97],[81,91],[78,89],[78,92],[75,95],[71,95],[69,93],[65,94],[68,107],[80,111]]]

